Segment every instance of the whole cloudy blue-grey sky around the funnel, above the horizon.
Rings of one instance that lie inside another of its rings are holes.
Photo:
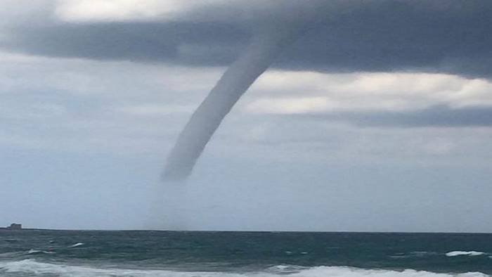
[[[0,226],[492,232],[492,1],[0,1]],[[162,183],[251,37],[296,25]]]

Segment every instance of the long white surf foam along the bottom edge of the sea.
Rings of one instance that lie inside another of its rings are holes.
[[[35,274],[46,276],[134,276],[134,277],[278,277],[288,274],[290,277],[487,277],[479,272],[469,273],[432,273],[427,271],[389,271],[376,269],[355,269],[344,266],[273,266],[266,271],[251,273],[233,272],[183,272],[167,270],[138,270],[138,269],[103,269],[90,266],[69,266],[65,264],[49,264],[25,259],[18,262],[0,262],[1,273]]]

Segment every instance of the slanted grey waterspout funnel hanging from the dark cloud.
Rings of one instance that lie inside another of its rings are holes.
[[[233,105],[299,32],[297,27],[294,30],[284,28],[277,32],[261,32],[253,37],[250,46],[228,67],[181,131],[167,159],[164,180],[181,180],[190,175],[205,146]]]

